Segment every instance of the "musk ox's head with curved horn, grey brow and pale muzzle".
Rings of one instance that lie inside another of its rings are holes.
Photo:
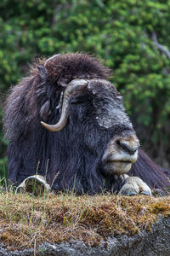
[[[128,172],[137,160],[139,140],[122,96],[107,80],[108,69],[83,54],[54,55],[38,68],[42,84],[50,88],[48,103],[43,104],[48,105],[48,116],[43,106],[40,111],[42,125],[54,132],[53,137],[65,134],[72,150],[82,152],[80,158],[87,152],[96,157],[102,174]]]

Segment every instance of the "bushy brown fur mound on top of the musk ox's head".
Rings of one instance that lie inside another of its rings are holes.
[[[46,68],[51,84],[69,84],[72,79],[108,79],[110,70],[96,58],[85,54],[58,55]]]

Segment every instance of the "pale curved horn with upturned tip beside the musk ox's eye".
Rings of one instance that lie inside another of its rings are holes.
[[[49,131],[61,131],[65,127],[68,119],[70,97],[73,95],[76,95],[78,91],[84,89],[87,84],[88,84],[88,80],[85,80],[85,79],[72,80],[71,83],[68,85],[68,87],[66,87],[65,89],[59,122],[55,125],[48,125],[44,122],[41,122],[41,124],[45,128],[47,128]]]

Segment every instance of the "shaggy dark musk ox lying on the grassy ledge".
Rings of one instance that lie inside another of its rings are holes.
[[[168,171],[139,149],[109,76],[100,61],[81,53],[54,55],[31,67],[5,107],[12,183],[38,174],[54,191],[90,195],[150,195],[150,189],[170,186]]]

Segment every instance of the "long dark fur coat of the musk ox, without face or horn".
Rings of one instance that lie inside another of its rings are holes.
[[[72,79],[109,79],[110,70],[85,54],[58,55],[57,61],[47,62],[48,73],[38,68],[44,62],[31,67],[30,75],[8,96],[4,116],[9,140],[8,178],[20,184],[38,173],[47,176],[55,190],[74,188],[89,194],[119,190],[118,177],[105,177],[99,172],[99,162],[113,131],[96,129],[91,122],[93,111],[87,111],[87,104],[93,108],[93,99],[86,92],[78,104],[71,105],[70,119],[62,131],[47,131],[40,123],[58,121],[59,96]],[[99,93],[102,95],[102,91]],[[141,177],[152,189],[170,186],[168,171],[156,166],[141,150],[129,174]]]

